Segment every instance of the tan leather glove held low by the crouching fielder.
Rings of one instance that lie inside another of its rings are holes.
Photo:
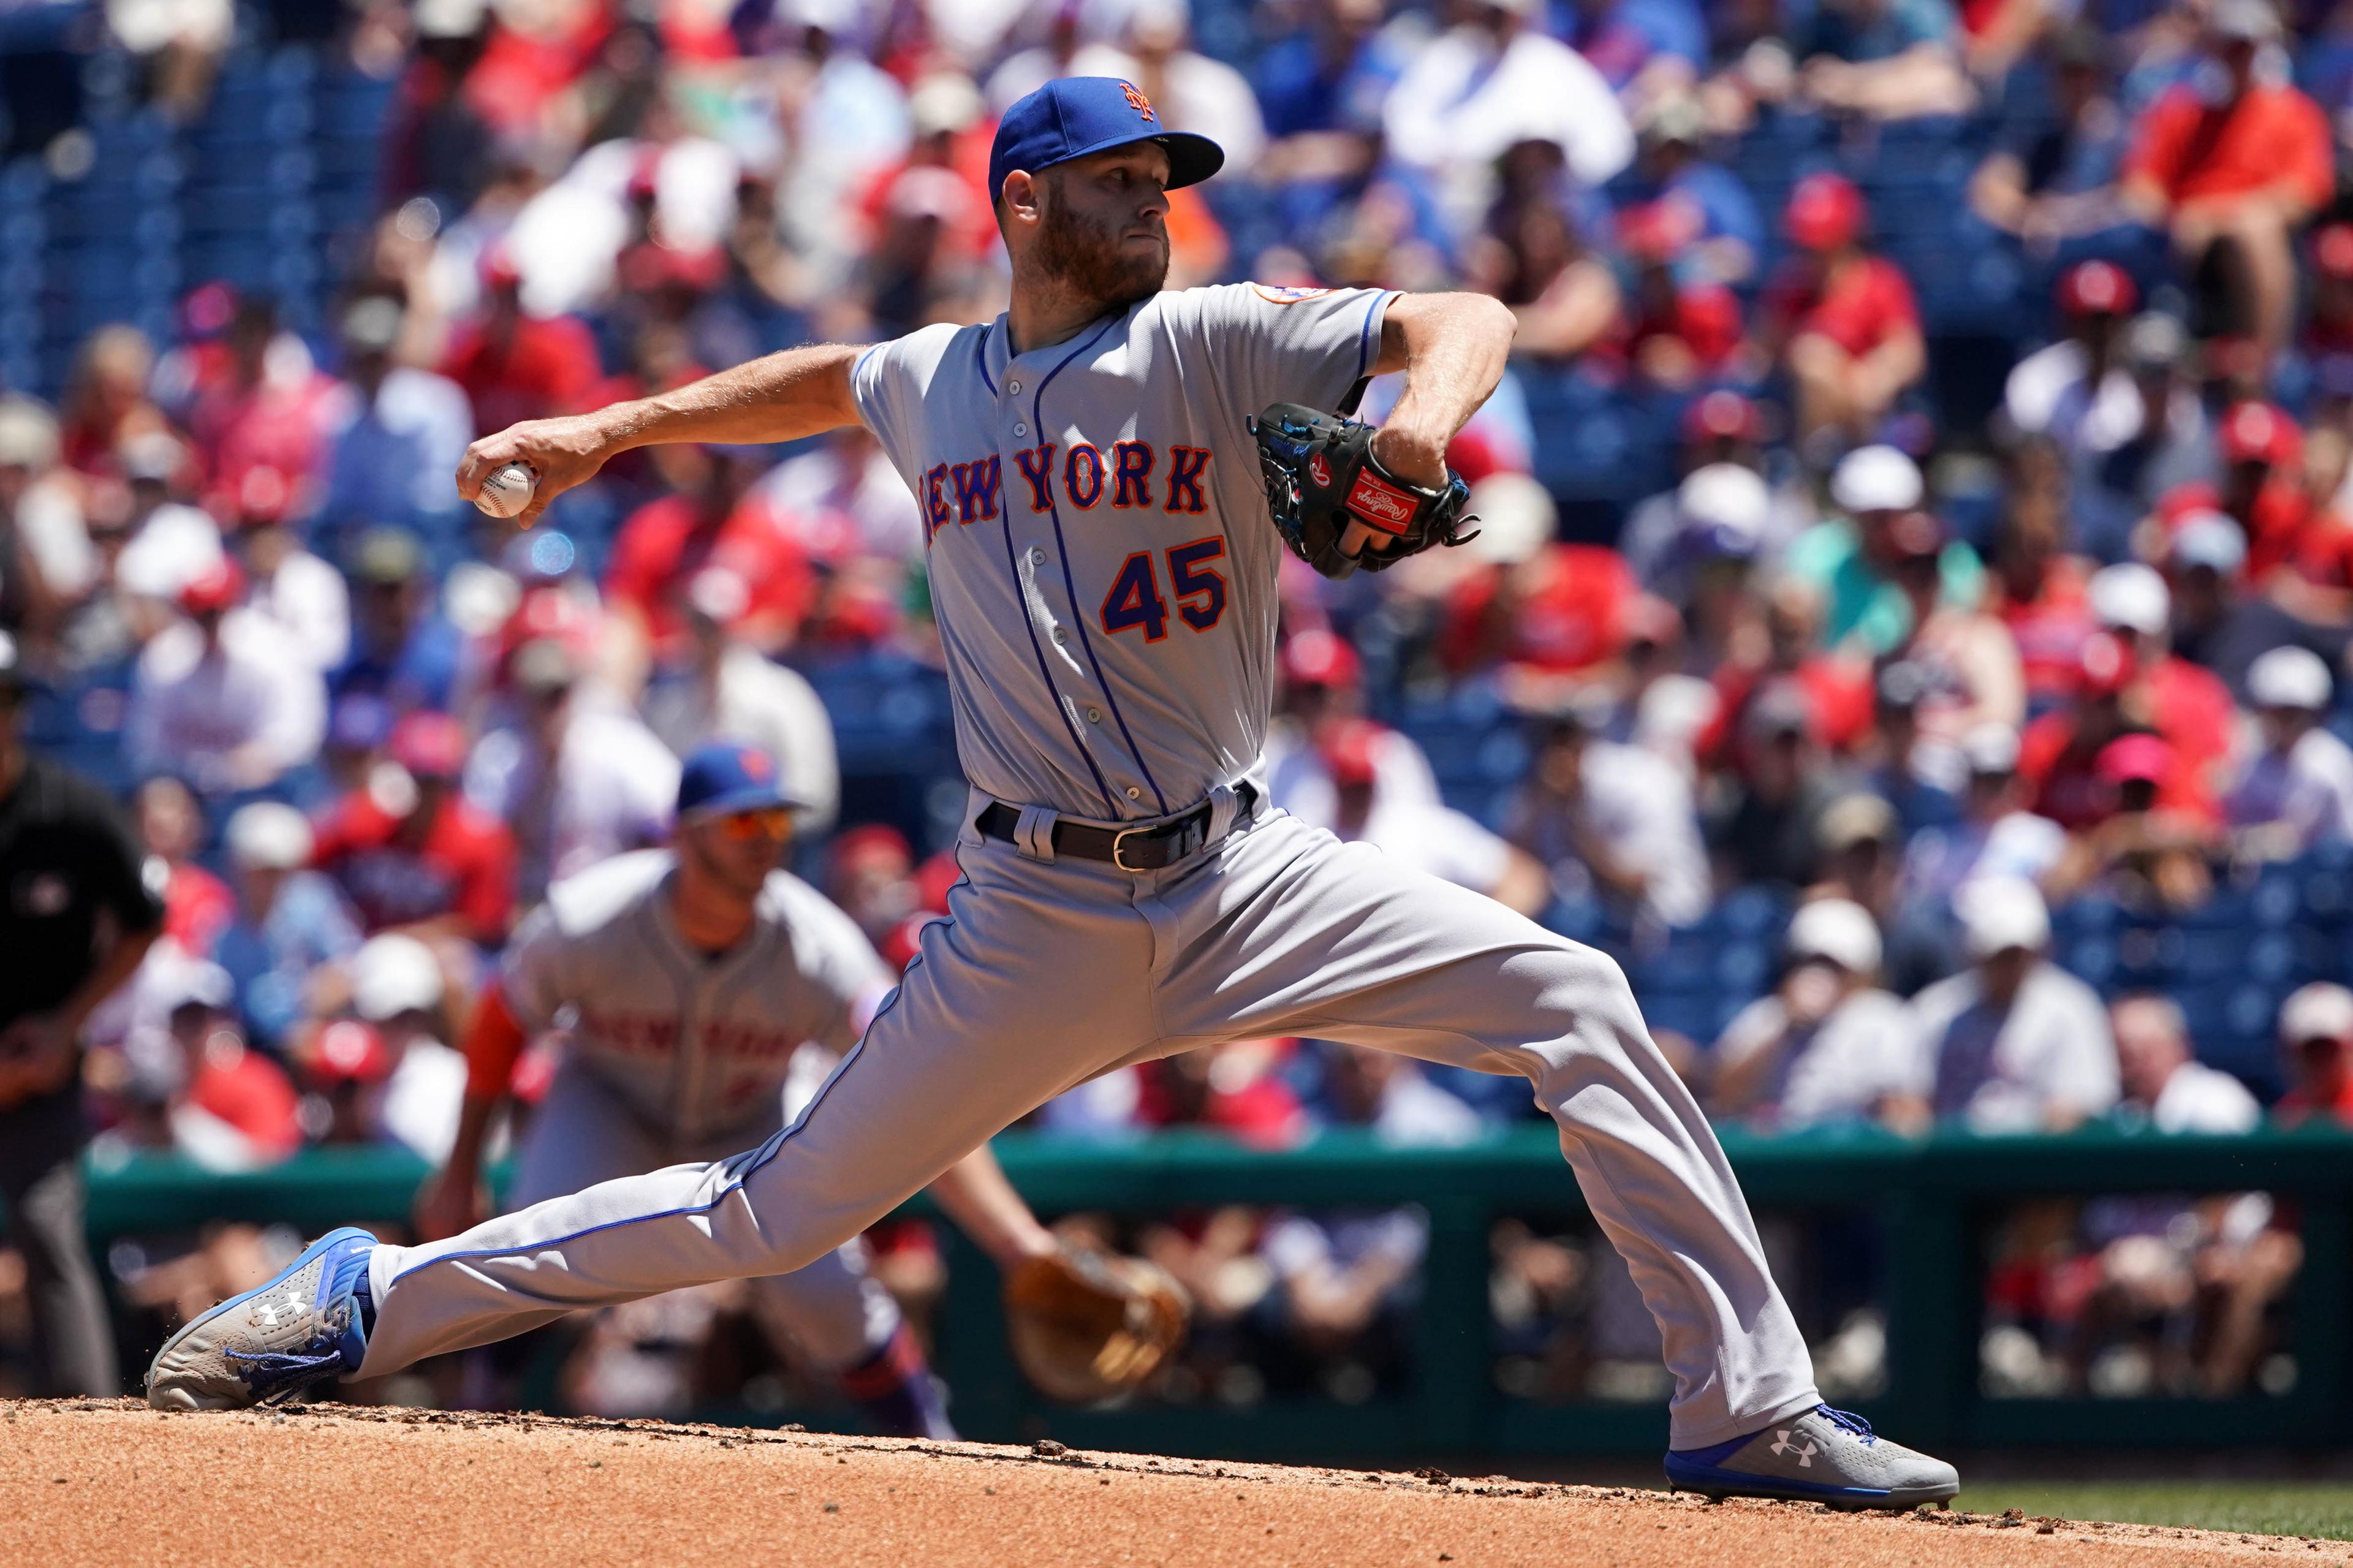
[[[1141,1257],[1061,1250],[1005,1276],[1014,1361],[1038,1391],[1092,1406],[1141,1387],[1184,1344],[1184,1288]]]

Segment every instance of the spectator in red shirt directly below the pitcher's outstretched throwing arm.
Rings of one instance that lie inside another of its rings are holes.
[[[767,655],[791,647],[816,600],[816,574],[791,520],[751,487],[751,464],[725,447],[668,445],[654,450],[654,466],[675,494],[621,525],[605,600],[635,622],[654,657],[678,655],[687,584],[725,567],[748,589],[729,631]]]

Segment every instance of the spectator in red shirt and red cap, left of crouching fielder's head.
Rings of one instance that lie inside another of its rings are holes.
[[[327,871],[369,932],[496,944],[513,916],[515,841],[456,789],[466,730],[447,713],[409,713],[391,758],[318,824],[313,864]]]

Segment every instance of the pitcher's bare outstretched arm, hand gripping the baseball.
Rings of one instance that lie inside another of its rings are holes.
[[[847,344],[786,348],[652,398],[511,424],[466,447],[466,459],[456,466],[456,492],[471,501],[492,471],[529,464],[539,473],[539,487],[520,518],[529,527],[548,501],[631,447],[666,440],[762,445],[856,424],[849,367],[859,353],[864,348]]]

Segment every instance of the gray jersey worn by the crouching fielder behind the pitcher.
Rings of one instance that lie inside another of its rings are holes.
[[[569,1024],[567,1059],[668,1140],[765,1135],[793,1052],[849,1050],[889,970],[788,871],[769,873],[751,935],[708,958],[671,916],[673,866],[640,850],[555,883],[508,944],[501,991],[527,1029]]]

